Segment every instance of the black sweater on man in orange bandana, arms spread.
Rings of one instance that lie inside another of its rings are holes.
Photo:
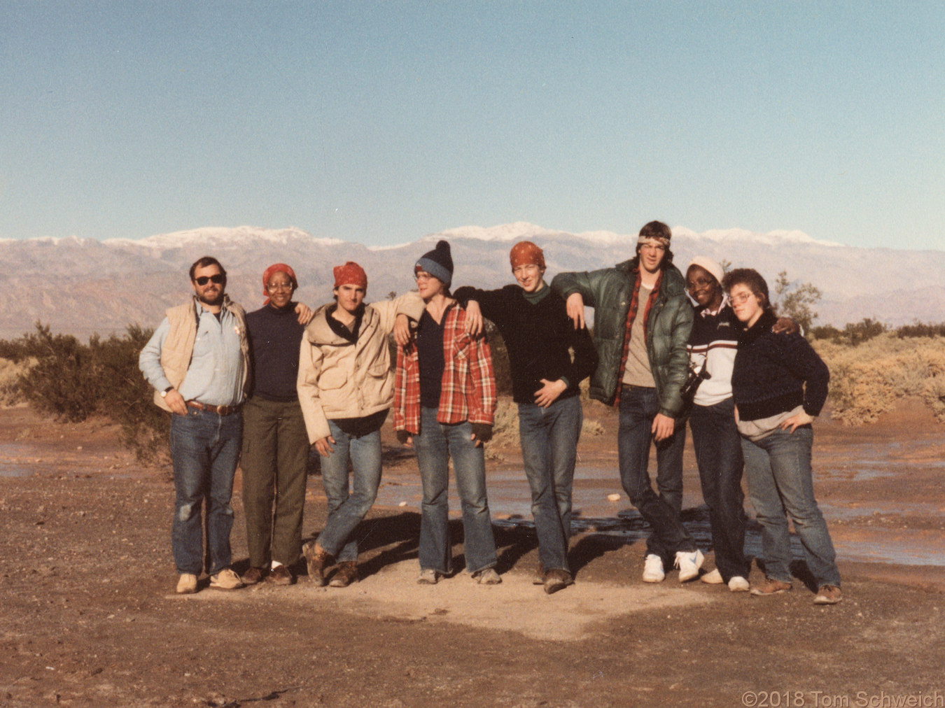
[[[470,300],[478,302],[483,316],[499,329],[506,342],[516,403],[534,403],[535,392],[544,385],[541,379],[567,379],[568,388],[559,398],[576,396],[577,384],[597,367],[591,335],[587,329],[574,328],[557,293],[549,291],[534,304],[525,299],[518,285],[500,290],[464,287],[454,296],[464,307]]]

